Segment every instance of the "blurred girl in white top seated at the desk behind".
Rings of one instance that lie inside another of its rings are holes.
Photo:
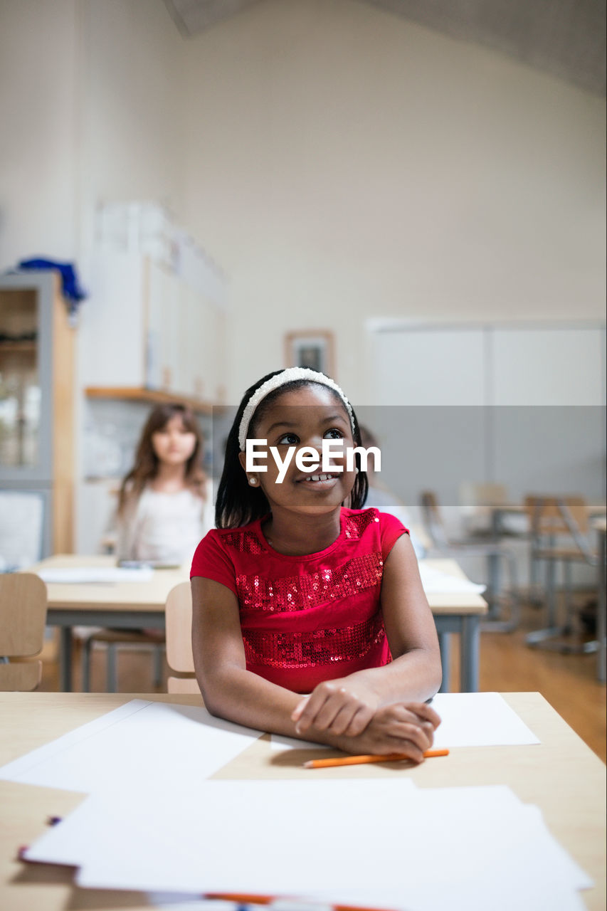
[[[118,561],[156,566],[190,561],[213,526],[201,460],[201,429],[190,408],[153,408],[139,439],[135,465],[120,486]]]

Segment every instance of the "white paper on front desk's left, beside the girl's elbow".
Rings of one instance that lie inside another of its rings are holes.
[[[261,735],[202,706],[132,700],[0,769],[0,779],[92,793],[207,778]]]

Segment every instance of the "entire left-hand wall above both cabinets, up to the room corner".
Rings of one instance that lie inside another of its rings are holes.
[[[182,46],[161,0],[3,0],[0,269],[37,253],[86,282],[100,202],[180,209]]]

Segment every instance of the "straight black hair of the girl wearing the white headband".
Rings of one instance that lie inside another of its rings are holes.
[[[242,469],[238,457],[241,451],[238,432],[241,426],[242,413],[252,394],[254,394],[259,387],[272,376],[282,373],[283,369],[274,370],[271,374],[262,376],[262,379],[258,380],[257,383],[247,389],[242,396],[242,402],[238,406],[238,411],[236,412],[234,422],[231,425],[230,434],[228,435],[225,445],[223,471],[221,473],[221,481],[215,503],[215,525],[218,528],[239,528],[243,525],[248,525],[249,522],[252,522],[257,518],[266,516],[270,512],[270,504],[261,487],[252,487]],[[262,415],[279,395],[282,395],[288,390],[301,389],[302,387],[309,385],[314,385],[314,380],[292,380],[290,383],[285,383],[277,389],[273,389],[273,391],[266,395],[266,397],[262,399],[262,402],[257,406],[257,409],[252,416],[251,424],[249,425],[249,435],[251,435],[254,425],[259,422]],[[324,386],[323,388],[334,392],[331,390],[330,386]],[[344,404],[337,393],[334,392],[334,396],[339,402]],[[360,430],[358,429],[358,421],[356,420],[354,409],[353,415],[354,441],[356,446],[360,446]],[[346,505],[352,509],[362,509],[365,504],[368,482],[366,479],[366,472],[361,469],[358,453],[355,455],[355,465],[358,468],[358,474],[355,477],[355,483]]]

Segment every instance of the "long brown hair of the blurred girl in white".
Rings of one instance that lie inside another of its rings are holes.
[[[179,415],[185,429],[196,436],[196,445],[186,463],[185,483],[195,494],[206,497],[205,483],[207,476],[202,470],[202,432],[196,416],[193,411],[185,404],[170,403],[157,404],[148,415],[139,444],[135,453],[135,465],[130,469],[129,474],[124,478],[120,485],[118,494],[118,515],[120,515],[127,503],[133,498],[138,498],[143,493],[143,489],[150,481],[158,475],[159,458],[154,452],[152,445],[152,435],[162,430],[171,420]]]

